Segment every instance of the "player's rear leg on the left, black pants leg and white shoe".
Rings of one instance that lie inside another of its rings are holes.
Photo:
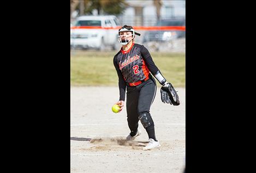
[[[127,86],[126,111],[127,122],[130,129],[130,135],[127,136],[128,140],[132,140],[136,136],[140,135],[140,132],[138,132],[138,97],[139,91],[136,89],[136,87]]]

